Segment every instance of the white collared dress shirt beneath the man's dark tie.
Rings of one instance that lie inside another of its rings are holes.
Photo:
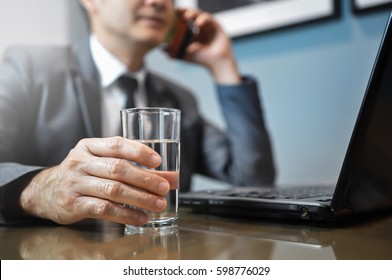
[[[106,50],[94,34],[90,36],[90,48],[100,75],[102,137],[121,135],[120,110],[125,107],[127,95],[116,81],[123,74],[135,77],[138,81],[138,89],[134,93],[134,103],[137,107],[145,107],[147,105],[144,89],[146,71],[142,69],[129,73],[126,65]]]

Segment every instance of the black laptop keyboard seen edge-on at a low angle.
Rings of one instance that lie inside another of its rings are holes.
[[[277,190],[251,190],[228,192],[226,196],[232,197],[249,197],[264,199],[302,199],[319,196],[329,196],[332,198],[334,189],[331,187],[300,187]]]

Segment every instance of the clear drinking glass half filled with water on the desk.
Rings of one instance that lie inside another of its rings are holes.
[[[144,210],[149,216],[148,223],[143,226],[125,225],[125,233],[157,231],[177,226],[181,111],[157,107],[124,109],[121,111],[121,121],[125,138],[140,141],[161,156],[161,165],[149,171],[164,177],[170,184],[170,191],[166,195],[166,209],[162,212]]]

